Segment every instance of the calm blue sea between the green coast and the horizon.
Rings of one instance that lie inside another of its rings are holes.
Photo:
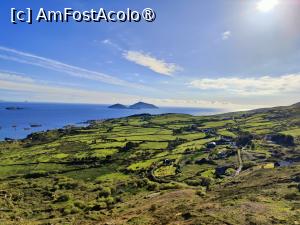
[[[6,107],[21,107],[22,110],[6,110]],[[220,110],[209,108],[174,108],[159,109],[109,109],[107,105],[85,104],[50,104],[50,103],[0,103],[0,140],[4,138],[21,139],[28,134],[66,125],[80,125],[87,120],[119,118],[140,113],[186,113],[208,115]],[[40,124],[41,127],[31,127]]]

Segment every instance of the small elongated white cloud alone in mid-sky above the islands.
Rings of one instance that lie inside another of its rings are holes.
[[[172,76],[176,71],[181,70],[181,68],[174,63],[167,63],[164,60],[156,59],[142,52],[126,51],[123,53],[123,56],[131,62],[166,76]]]

